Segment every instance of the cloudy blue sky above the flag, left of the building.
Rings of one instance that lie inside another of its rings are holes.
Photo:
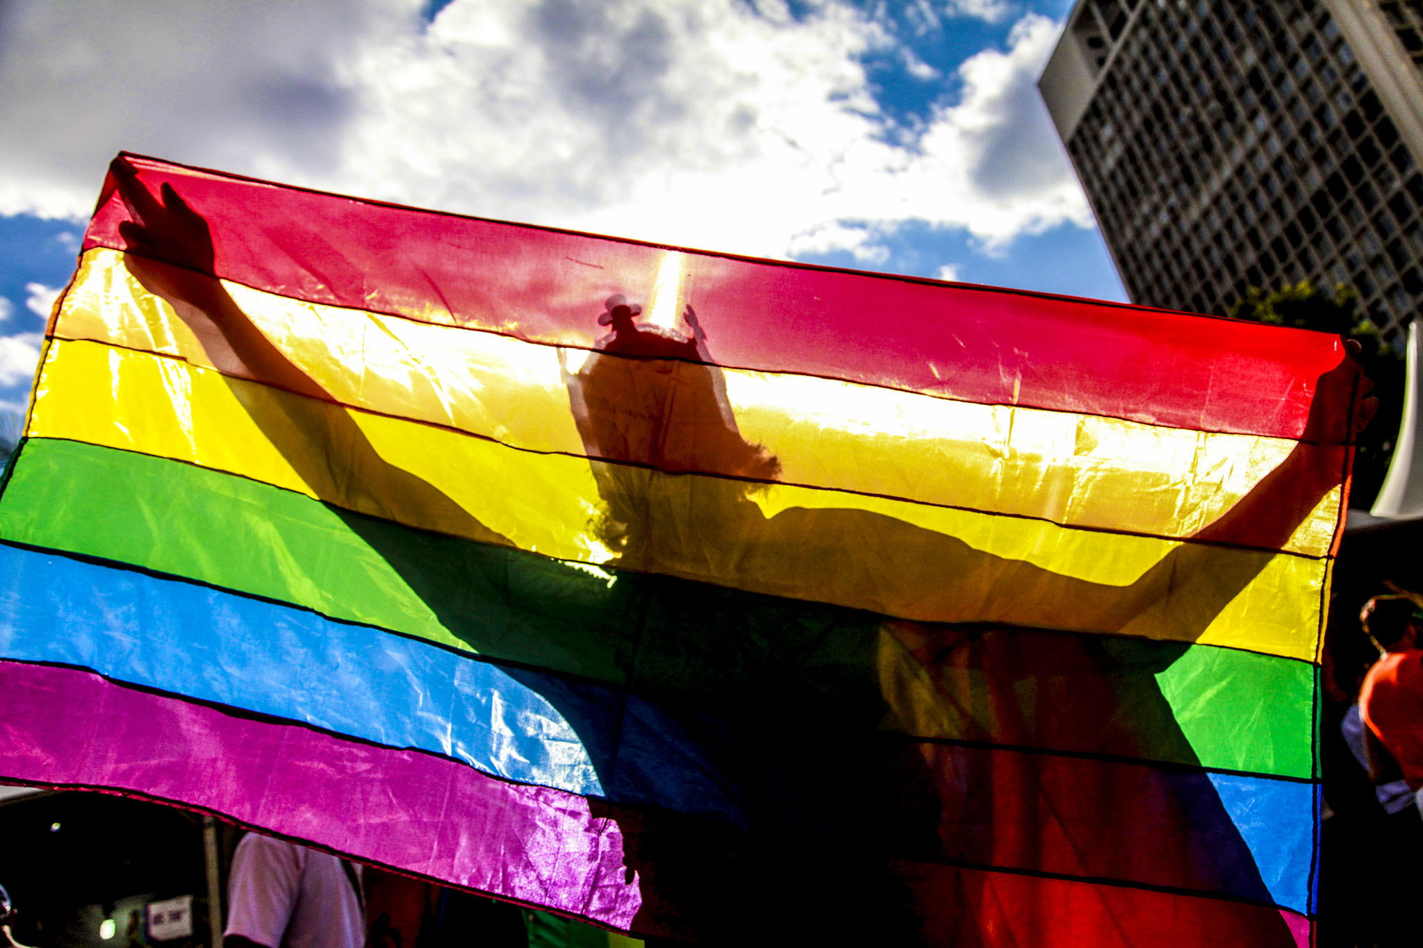
[[[120,149],[488,217],[1124,298],[1036,78],[1069,0],[0,4],[0,405]]]

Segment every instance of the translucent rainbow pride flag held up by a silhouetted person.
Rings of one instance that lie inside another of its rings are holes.
[[[0,495],[0,779],[696,944],[1303,945],[1358,388],[121,155]]]

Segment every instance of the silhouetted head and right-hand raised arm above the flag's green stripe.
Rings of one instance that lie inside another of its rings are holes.
[[[976,615],[1191,641],[1339,483],[1339,455],[1318,443],[1346,441],[1350,421],[1358,431],[1376,408],[1363,398],[1368,382],[1356,364],[1340,362],[1318,381],[1303,435],[1274,472],[1136,581],[1113,586],[986,553],[882,513],[827,506],[764,516],[750,493],[773,480],[778,465],[741,438],[721,371],[706,361],[696,314],[686,311],[693,338],[639,327],[635,316],[622,297],[610,298],[601,321],[612,324],[612,334],[568,377],[583,446],[596,459],[603,539],[618,563],[713,581],[730,570],[763,583],[763,591],[790,596],[855,590],[871,597],[857,604],[887,614],[901,614],[895,603],[912,603],[908,618]],[[1340,394],[1352,398],[1352,419],[1332,414]],[[686,476],[697,472],[710,476]],[[1279,483],[1295,489],[1282,499]],[[1227,539],[1244,549],[1222,557]],[[719,554],[734,563],[717,561]],[[887,594],[877,603],[881,590]],[[995,613],[995,600],[1012,604],[1010,614]]]

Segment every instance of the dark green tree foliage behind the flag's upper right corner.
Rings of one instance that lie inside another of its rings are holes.
[[[1278,290],[1251,287],[1244,300],[1237,300],[1229,316],[1299,330],[1335,333],[1358,340],[1363,351],[1359,364],[1373,379],[1373,394],[1379,397],[1379,412],[1359,436],[1353,460],[1353,489],[1350,506],[1368,507],[1373,503],[1393,456],[1393,442],[1399,436],[1403,418],[1403,355],[1387,345],[1379,328],[1359,311],[1359,298],[1349,287],[1339,284],[1333,294],[1309,280]]]

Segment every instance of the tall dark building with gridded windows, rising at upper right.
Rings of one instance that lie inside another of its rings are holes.
[[[1039,88],[1134,301],[1224,314],[1252,286],[1342,283],[1402,345],[1423,303],[1420,6],[1077,3]]]

